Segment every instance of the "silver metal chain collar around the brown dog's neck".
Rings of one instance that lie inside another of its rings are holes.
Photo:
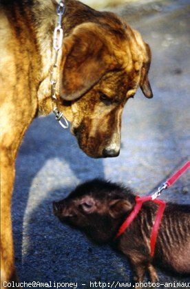
[[[55,114],[56,121],[59,121],[60,126],[62,128],[68,128],[69,123],[67,119],[63,116],[63,112],[59,112],[58,109],[58,100],[56,98],[56,82],[57,82],[57,69],[58,69],[58,56],[59,50],[62,47],[63,43],[63,29],[61,28],[63,14],[65,13],[65,4],[63,1],[59,1],[57,6],[56,14],[58,15],[57,26],[54,29],[54,55],[52,56],[52,70],[50,75],[50,83],[51,83],[51,97],[52,97],[52,109]],[[62,122],[61,120],[64,120]]]

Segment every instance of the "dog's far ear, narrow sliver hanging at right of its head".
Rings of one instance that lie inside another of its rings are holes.
[[[145,43],[145,48],[147,52],[146,53],[147,61],[143,63],[143,66],[141,68],[140,89],[142,90],[145,97],[147,97],[148,99],[151,99],[153,97],[153,93],[151,91],[151,86],[150,86],[149,79],[148,79],[148,72],[149,72],[149,67],[151,63],[151,50],[147,43]]]

